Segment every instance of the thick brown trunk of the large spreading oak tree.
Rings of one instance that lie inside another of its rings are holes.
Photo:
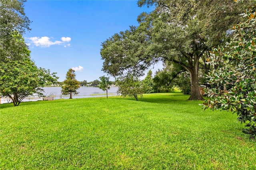
[[[198,67],[194,67],[192,70],[190,70],[189,73],[191,82],[191,95],[188,100],[203,100],[199,90]]]

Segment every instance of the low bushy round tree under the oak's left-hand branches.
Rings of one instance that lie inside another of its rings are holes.
[[[128,74],[126,77],[119,77],[118,83],[118,93],[123,97],[134,97],[138,101],[138,97],[143,96],[142,83],[138,78],[133,75]]]

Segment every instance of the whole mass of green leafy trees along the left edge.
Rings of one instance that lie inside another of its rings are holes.
[[[0,0],[0,95],[12,99],[14,106],[29,95],[42,95],[45,84],[56,83],[50,70],[36,67],[22,34],[30,30],[24,13],[25,0]]]

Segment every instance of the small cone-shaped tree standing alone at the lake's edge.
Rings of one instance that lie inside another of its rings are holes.
[[[80,82],[76,80],[76,74],[73,69],[69,69],[66,74],[66,79],[63,81],[63,85],[61,87],[62,95],[70,95],[69,99],[72,99],[72,94],[76,95],[79,89]]]

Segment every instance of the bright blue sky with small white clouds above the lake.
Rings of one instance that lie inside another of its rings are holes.
[[[57,72],[59,81],[73,68],[78,81],[89,82],[106,75],[101,71],[101,43],[138,26],[137,16],[153,8],[139,8],[135,0],[28,0],[24,9],[32,21],[24,38],[36,65]]]

